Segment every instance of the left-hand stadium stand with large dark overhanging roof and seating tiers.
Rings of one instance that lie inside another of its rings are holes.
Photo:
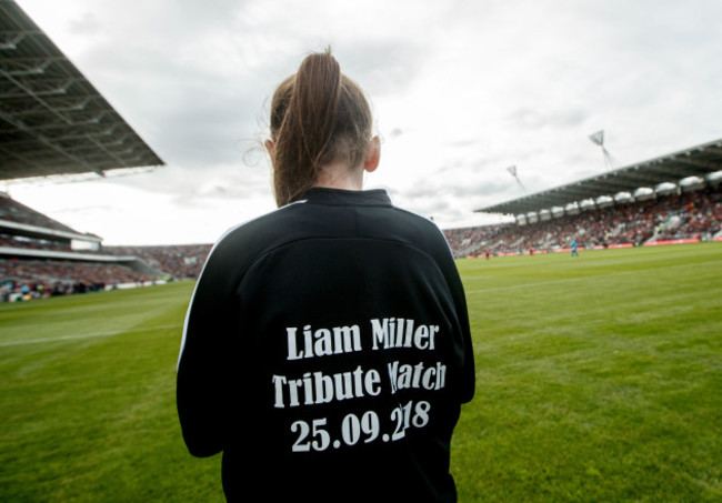
[[[0,181],[104,175],[163,161],[12,0],[0,2]],[[0,299],[163,276],[0,193]]]

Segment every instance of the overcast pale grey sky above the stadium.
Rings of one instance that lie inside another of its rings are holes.
[[[397,205],[474,209],[722,138],[719,0],[17,0],[163,159],[13,183],[104,244],[210,243],[274,209],[260,149],[275,85],[330,46],[370,98]]]

